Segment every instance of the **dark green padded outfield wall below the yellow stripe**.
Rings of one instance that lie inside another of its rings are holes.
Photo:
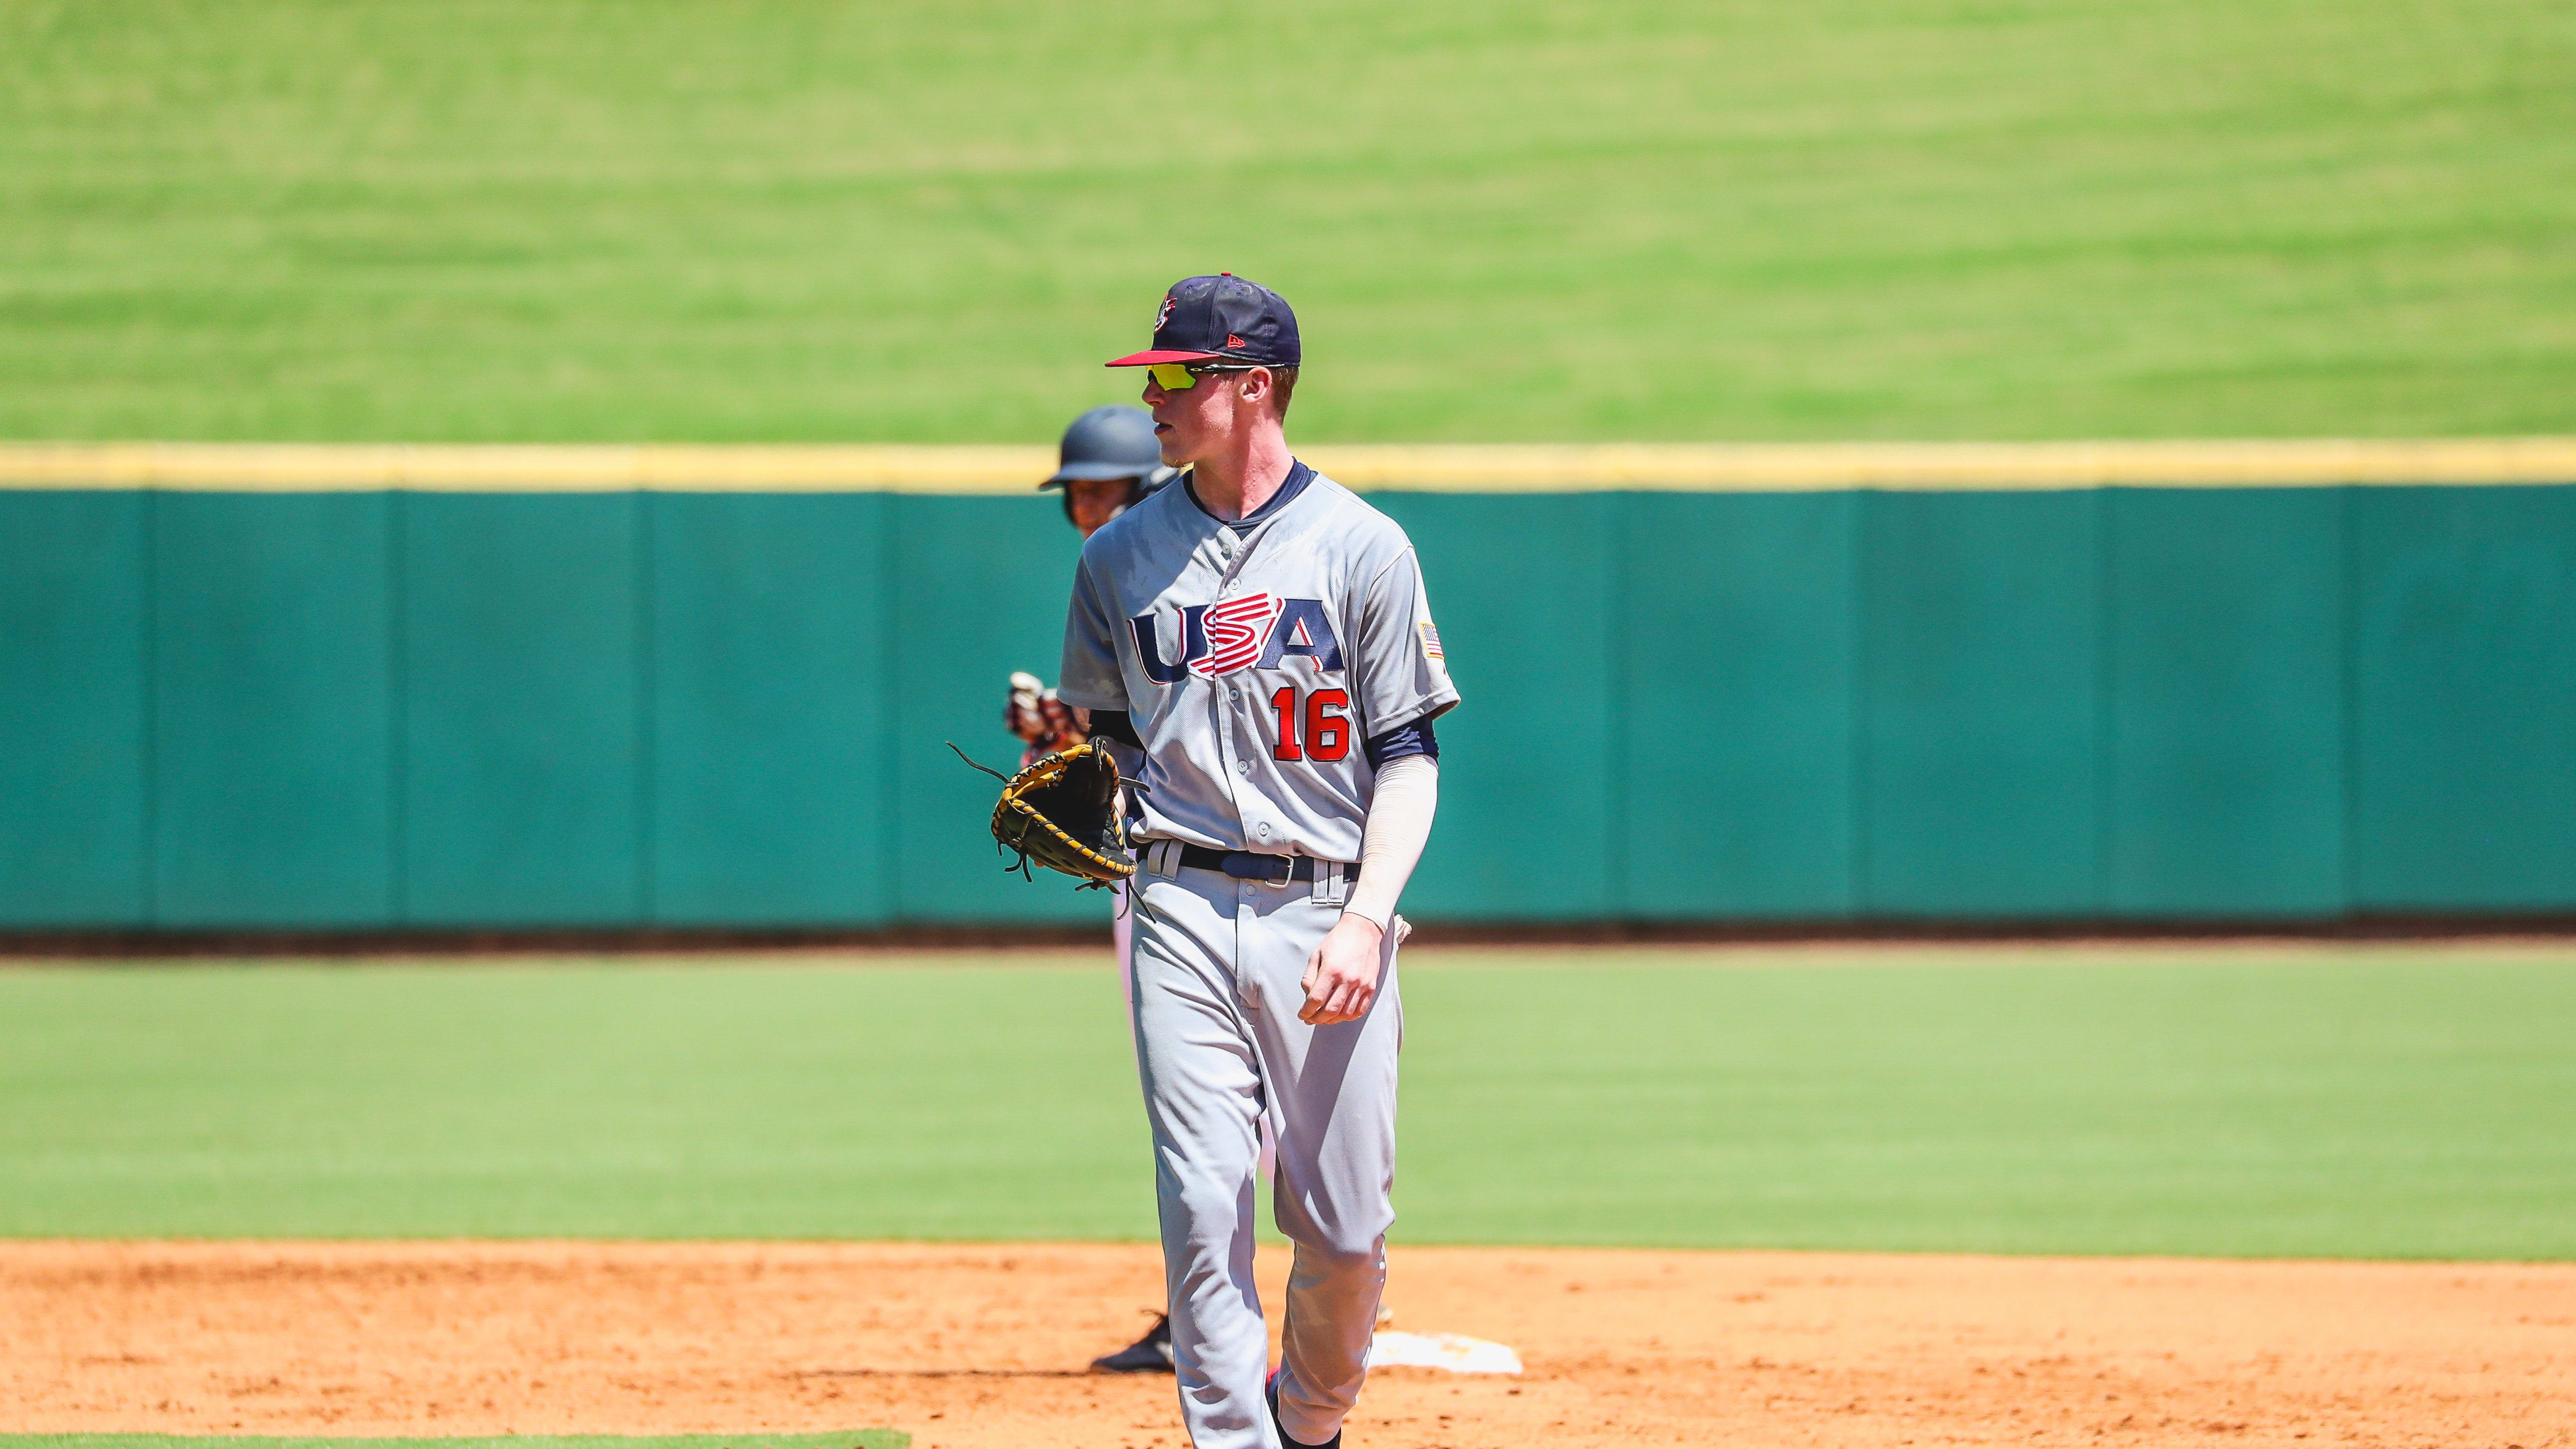
[[[1373,503],[1466,694],[1419,918],[2576,910],[2576,485]],[[1018,490],[0,487],[0,926],[1095,920],[940,745],[1072,559]]]

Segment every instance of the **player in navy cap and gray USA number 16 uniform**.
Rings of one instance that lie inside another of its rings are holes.
[[[1082,547],[1061,694],[1144,755],[1128,957],[1180,1410],[1198,1449],[1337,1446],[1394,1222],[1396,897],[1458,704],[1412,541],[1288,451],[1296,315],[1172,286],[1146,369],[1188,472]],[[1283,1361],[1252,1287],[1260,1127],[1296,1245]]]

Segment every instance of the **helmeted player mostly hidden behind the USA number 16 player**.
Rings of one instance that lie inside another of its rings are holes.
[[[1162,462],[1162,443],[1154,441],[1154,418],[1144,407],[1108,405],[1092,407],[1064,428],[1056,446],[1056,474],[1038,485],[1038,492],[1064,490],[1064,521],[1084,539],[1103,523],[1126,513],[1157,487],[1172,482],[1172,469]],[[1090,737],[1087,712],[1064,704],[1033,673],[1010,676],[1010,704],[1002,706],[1002,724],[1020,737],[1020,766],[1036,763]],[[1133,773],[1136,755],[1110,740],[1118,768]],[[1128,990],[1128,887],[1110,887],[1110,941],[1118,951],[1118,985]],[[1092,1359],[1100,1374],[1170,1374],[1172,1372],[1172,1320],[1157,1315],[1144,1338]]]

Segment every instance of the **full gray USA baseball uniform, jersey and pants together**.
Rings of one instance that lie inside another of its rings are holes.
[[[1404,529],[1303,464],[1242,526],[1164,487],[1092,534],[1061,696],[1128,712],[1141,838],[1345,864],[1376,794],[1363,740],[1458,704]],[[1278,1449],[1252,1289],[1267,1129],[1296,1243],[1270,1387],[1288,1436],[1321,1444],[1360,1395],[1386,1287],[1401,928],[1368,1013],[1306,1026],[1301,972],[1347,871],[1252,882],[1177,856],[1141,853],[1128,975],[1180,1410],[1198,1449]]]

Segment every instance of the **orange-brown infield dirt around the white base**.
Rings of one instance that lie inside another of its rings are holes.
[[[1283,1263],[1267,1261],[1265,1292]],[[1182,1439],[1151,1248],[0,1243],[0,1428]],[[1409,1248],[1352,1449],[2576,1446],[2576,1266]]]

